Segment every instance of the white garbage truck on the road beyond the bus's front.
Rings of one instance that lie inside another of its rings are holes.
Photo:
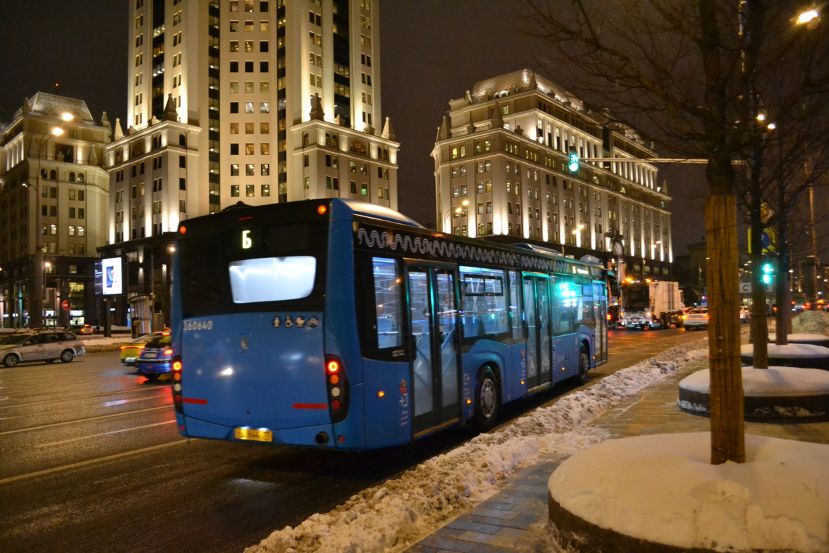
[[[624,328],[670,328],[682,326],[682,292],[676,282],[651,280],[623,282],[619,326]]]

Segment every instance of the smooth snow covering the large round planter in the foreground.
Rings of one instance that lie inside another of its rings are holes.
[[[709,433],[612,439],[561,463],[548,487],[567,511],[638,539],[829,551],[829,445],[747,434],[745,458],[710,464]]]

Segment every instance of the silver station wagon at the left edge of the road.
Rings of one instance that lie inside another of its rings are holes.
[[[68,363],[84,355],[86,350],[72,332],[39,331],[13,334],[0,344],[0,359],[5,366],[17,366],[25,361],[54,363],[60,359]]]

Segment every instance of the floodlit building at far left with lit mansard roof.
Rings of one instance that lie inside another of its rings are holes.
[[[94,321],[95,250],[108,229],[106,114],[95,124],[83,100],[38,92],[0,132],[0,326]]]

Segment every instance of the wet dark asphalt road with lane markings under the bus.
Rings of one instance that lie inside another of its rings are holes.
[[[611,332],[604,375],[705,332]],[[177,433],[169,381],[117,352],[0,369],[0,551],[235,551],[469,438],[335,454]],[[511,406],[502,424],[573,386]]]

